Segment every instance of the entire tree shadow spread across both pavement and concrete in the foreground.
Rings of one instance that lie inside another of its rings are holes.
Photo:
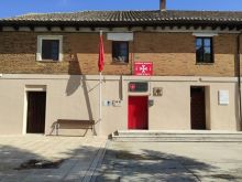
[[[37,143],[36,143],[37,144]],[[135,143],[134,143],[135,144]],[[54,148],[54,147],[53,147]],[[212,181],[241,181],[234,172],[218,173],[221,169],[193,158],[172,154],[152,149],[139,152],[107,148],[103,161],[99,162],[96,172],[91,167],[100,151],[89,142],[59,154],[66,156],[58,169],[15,170],[21,163],[31,159],[46,160],[30,149],[13,146],[0,146],[0,179],[2,181],[201,181],[197,172],[207,173]],[[51,154],[48,156],[51,157]],[[241,171],[237,172],[240,173]],[[234,174],[234,175],[233,175]]]

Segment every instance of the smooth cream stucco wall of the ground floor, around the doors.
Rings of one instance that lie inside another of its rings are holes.
[[[28,86],[46,87],[45,133],[52,131],[57,119],[98,120],[99,94],[98,76],[68,75],[3,75],[0,77],[0,135],[24,133],[24,99]],[[227,77],[135,77],[103,76],[102,100],[120,100],[121,107],[103,106],[101,124],[96,125],[96,132],[107,136],[118,129],[128,129],[129,82],[147,81],[147,95],[154,99],[148,107],[150,130],[189,130],[190,129],[190,86],[206,86],[207,122],[211,130],[238,130],[237,78]],[[122,86],[121,86],[122,85]],[[162,87],[163,96],[153,96],[153,87]],[[218,104],[218,92],[229,90],[230,104]],[[122,92],[121,92],[122,90]],[[208,94],[209,93],[209,94]],[[133,94],[132,94],[133,95]],[[134,94],[135,95],[135,94]],[[209,101],[209,103],[208,103]],[[208,107],[209,106],[209,107]],[[62,130],[66,135],[79,135],[78,129]],[[54,133],[54,132],[53,132]],[[88,131],[88,135],[91,135]]]

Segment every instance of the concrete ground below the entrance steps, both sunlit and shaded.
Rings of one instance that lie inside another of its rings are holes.
[[[241,182],[241,142],[109,142],[95,182]]]

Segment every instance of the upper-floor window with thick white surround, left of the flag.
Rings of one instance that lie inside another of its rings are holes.
[[[37,61],[62,61],[63,36],[40,35],[37,36]]]

